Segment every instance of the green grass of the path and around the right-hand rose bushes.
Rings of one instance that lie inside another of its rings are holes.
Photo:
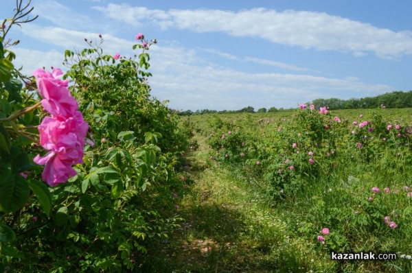
[[[361,114],[366,119],[371,113],[341,110],[334,115],[352,120]],[[253,127],[259,119],[293,115],[280,114],[190,117],[199,148],[187,156],[185,174],[192,182],[185,185],[178,210],[185,221],[172,237],[153,241],[141,257],[142,272],[411,272],[407,259],[330,259],[331,250],[412,254],[411,199],[404,191],[412,185],[412,166],[403,161],[404,155],[393,157],[390,151],[381,151],[381,158],[365,165],[360,164],[362,158],[342,156],[329,174],[302,176],[299,191],[277,199],[271,185],[244,163],[210,161],[207,137],[214,131],[211,124],[216,117],[259,132],[262,129]],[[411,122],[410,109],[387,109],[387,115]],[[373,196],[372,187],[389,187],[391,193]],[[382,221],[386,215],[398,228]],[[323,245],[317,235],[325,227],[330,234]]]

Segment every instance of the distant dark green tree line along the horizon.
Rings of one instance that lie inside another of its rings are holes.
[[[307,102],[307,105],[314,104],[317,108],[321,106],[327,106],[330,110],[337,109],[359,109],[359,108],[378,108],[385,106],[385,108],[412,108],[412,91],[393,91],[391,93],[385,93],[383,95],[378,95],[376,97],[363,97],[360,99],[338,99],[332,97],[330,99],[314,99],[312,102]],[[277,112],[277,111],[288,111],[295,108],[260,108],[257,111],[252,106],[247,106],[240,110],[192,110],[179,111],[179,115],[189,116],[189,115],[204,115],[204,114],[214,114],[214,113],[227,113],[235,114],[240,112]]]

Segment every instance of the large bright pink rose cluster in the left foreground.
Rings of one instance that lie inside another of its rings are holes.
[[[71,165],[83,163],[84,138],[89,130],[76,99],[67,88],[69,81],[60,80],[62,74],[57,68],[52,73],[43,69],[33,73],[38,93],[43,97],[41,104],[52,115],[38,126],[40,145],[49,152],[43,157],[37,155],[34,162],[45,165],[42,178],[52,187],[76,176]]]

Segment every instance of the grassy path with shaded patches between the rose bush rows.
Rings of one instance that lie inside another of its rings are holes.
[[[317,244],[290,233],[264,184],[239,167],[210,162],[205,139],[196,138],[201,146],[187,157],[189,181],[177,209],[185,221],[173,237],[153,241],[142,272],[309,272],[328,265],[326,254],[314,255]]]

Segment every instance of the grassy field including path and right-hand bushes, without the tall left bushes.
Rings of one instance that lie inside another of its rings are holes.
[[[142,257],[141,270],[411,272],[412,110],[299,111],[183,120],[198,144],[181,174],[184,220],[153,241],[156,258]],[[332,261],[332,252],[398,259]]]

